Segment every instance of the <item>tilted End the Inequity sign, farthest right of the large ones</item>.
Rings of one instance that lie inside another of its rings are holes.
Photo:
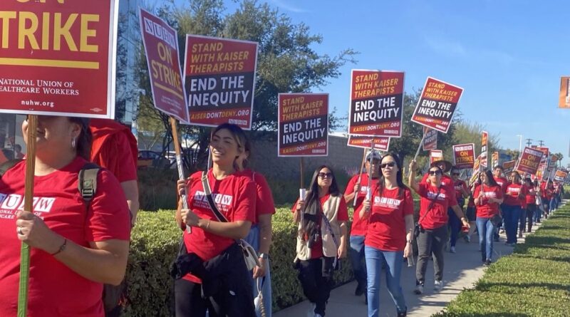
[[[428,77],[412,121],[447,133],[462,92],[463,88]]]

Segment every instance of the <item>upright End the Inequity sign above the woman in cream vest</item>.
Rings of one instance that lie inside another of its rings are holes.
[[[280,93],[277,156],[328,155],[328,94]]]

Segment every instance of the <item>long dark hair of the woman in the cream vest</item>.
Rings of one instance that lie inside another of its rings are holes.
[[[323,168],[328,168],[333,177],[331,187],[328,187],[328,194],[331,194],[331,196],[338,196],[341,194],[341,191],[338,190],[338,184],[336,183],[336,177],[334,176],[333,169],[328,165],[321,165],[318,167],[313,173],[313,178],[311,178],[311,186],[309,187],[309,192],[305,199],[305,208],[303,209],[303,228],[305,232],[309,234],[314,233],[314,229],[318,226],[318,214],[323,212],[323,208],[321,207],[321,198],[318,197],[318,173],[321,172]]]

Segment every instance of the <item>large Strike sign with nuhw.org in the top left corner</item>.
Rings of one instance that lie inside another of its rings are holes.
[[[1,112],[113,118],[118,1],[0,1]]]

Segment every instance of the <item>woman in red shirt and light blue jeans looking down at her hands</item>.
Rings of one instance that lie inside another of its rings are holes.
[[[481,185],[473,194],[477,206],[477,232],[481,259],[485,265],[491,264],[493,254],[493,233],[496,227],[491,219],[499,214],[499,204],[503,202],[502,188],[495,182],[490,170],[481,173]]]

